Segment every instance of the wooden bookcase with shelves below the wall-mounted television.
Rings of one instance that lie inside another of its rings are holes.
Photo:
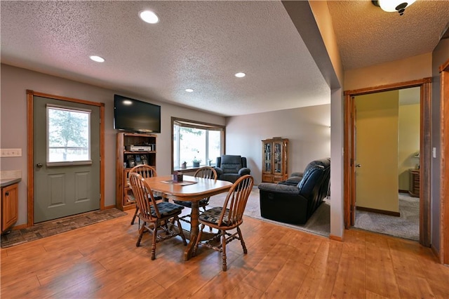
[[[132,191],[128,185],[128,173],[139,164],[156,168],[156,135],[117,133],[116,140],[116,208],[122,211],[135,208],[128,201]]]

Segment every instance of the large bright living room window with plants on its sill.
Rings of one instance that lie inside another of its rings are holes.
[[[225,126],[172,118],[173,170],[215,166],[223,154]]]

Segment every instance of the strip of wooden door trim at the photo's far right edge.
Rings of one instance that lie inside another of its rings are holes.
[[[449,264],[449,60],[439,67],[441,73],[441,230],[440,230],[440,261]]]

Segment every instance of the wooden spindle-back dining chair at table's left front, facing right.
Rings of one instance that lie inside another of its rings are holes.
[[[180,236],[182,243],[186,246],[187,241],[178,218],[184,207],[168,201],[156,202],[151,188],[139,173],[130,173],[129,180],[136,204],[140,209],[138,217],[143,222],[135,246],[140,246],[144,232],[150,232],[153,235],[152,260],[156,258],[156,243],[160,241]],[[173,225],[173,222],[177,222],[177,227]],[[158,234],[158,230],[164,231],[165,234]]]

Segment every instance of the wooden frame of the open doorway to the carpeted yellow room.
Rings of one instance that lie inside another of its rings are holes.
[[[351,109],[352,97],[392,91],[396,89],[420,87],[420,244],[430,246],[430,166],[431,166],[431,77],[344,91],[344,227],[349,230],[352,223],[351,203],[354,194],[354,119]]]

